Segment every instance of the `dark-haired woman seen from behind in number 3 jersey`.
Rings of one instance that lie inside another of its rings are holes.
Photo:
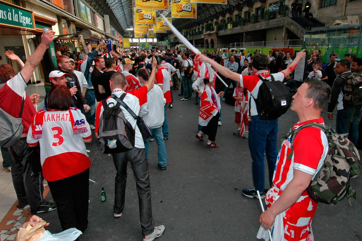
[[[92,133],[80,109],[70,108],[72,96],[66,86],[54,85],[47,106],[35,114],[28,132],[30,147],[40,145],[43,176],[58,206],[63,230],[88,225],[88,178],[90,160],[84,142]]]

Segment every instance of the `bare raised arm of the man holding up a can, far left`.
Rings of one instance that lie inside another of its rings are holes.
[[[33,75],[35,68],[37,68],[40,61],[43,59],[44,53],[51,42],[53,42],[54,33],[47,31],[41,36],[41,42],[35,51],[26,60],[24,67],[20,70],[21,76],[26,83],[29,82],[30,77]]]

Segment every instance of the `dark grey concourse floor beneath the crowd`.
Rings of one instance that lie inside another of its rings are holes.
[[[29,95],[39,93],[41,100],[45,96],[41,84],[29,85],[26,92]],[[180,101],[182,96],[178,96],[178,93],[179,90],[173,91],[173,108],[167,108],[167,171],[158,169],[157,145],[155,142],[150,143],[148,164],[152,214],[155,225],[163,224],[166,227],[157,241],[257,240],[260,226],[258,219],[262,211],[258,199],[247,198],[241,193],[243,188],[253,186],[252,160],[248,139],[232,134],[236,129],[234,107],[222,102],[222,126],[218,127],[215,141],[220,147],[207,148],[207,138],[200,142],[194,137],[199,112],[199,107],[194,104],[195,94],[191,100]],[[335,128],[335,119],[329,120],[327,115],[325,108],[321,116],[326,125]],[[297,121],[298,116],[291,110],[279,118],[278,149],[281,138]],[[130,165],[127,166],[125,209],[122,217],[114,218],[113,160],[111,156],[100,152],[94,135],[92,143],[85,145],[90,151],[88,155],[92,162],[89,178],[95,183],[89,182],[89,224],[80,240],[142,240],[138,196]],[[361,180],[361,175],[351,180],[352,188],[357,191],[357,200],[352,199],[352,207],[346,200],[335,206],[319,204],[312,222],[316,241],[362,240]],[[107,196],[104,203],[101,202],[102,187]],[[52,201],[46,183],[44,196]],[[1,171],[0,240],[14,240],[17,229],[30,217],[28,207],[20,210],[16,208],[16,203],[11,175]],[[56,211],[38,216],[50,222],[46,229],[51,233],[62,231]]]

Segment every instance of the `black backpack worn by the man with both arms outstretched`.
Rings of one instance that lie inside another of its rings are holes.
[[[283,115],[291,104],[291,94],[281,81],[271,81],[258,76],[263,83],[259,87],[258,97],[254,99],[261,120],[275,120]]]

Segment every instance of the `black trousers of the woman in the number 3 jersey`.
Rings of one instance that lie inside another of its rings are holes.
[[[88,225],[89,168],[77,175],[48,181],[56,203],[63,231],[77,228],[84,232]]]

